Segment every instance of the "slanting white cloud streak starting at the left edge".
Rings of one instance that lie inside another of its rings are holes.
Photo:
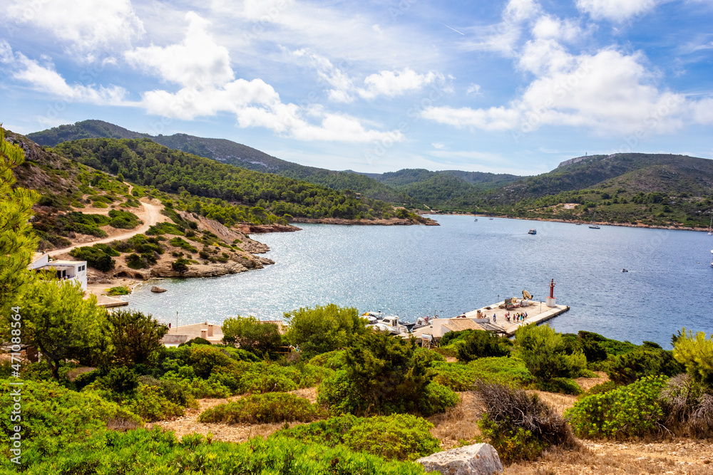
[[[93,84],[67,84],[66,80],[54,70],[51,63],[42,66],[20,52],[13,52],[6,41],[0,41],[0,63],[11,64],[11,76],[16,80],[29,83],[31,88],[42,93],[49,93],[68,101],[93,104],[121,103],[126,90],[118,86],[105,88]],[[90,77],[91,79],[91,77]]]

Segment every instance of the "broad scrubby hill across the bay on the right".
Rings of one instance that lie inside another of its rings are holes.
[[[708,227],[713,160],[642,153],[577,157],[462,202],[507,216],[589,221],[596,214],[600,222]]]

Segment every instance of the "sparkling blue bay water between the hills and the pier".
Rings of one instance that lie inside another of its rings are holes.
[[[436,216],[441,226],[302,224],[294,233],[253,236],[275,265],[218,278],[165,280],[127,296],[130,306],[175,325],[282,313],[337,303],[413,321],[455,316],[528,290],[535,299],[555,279],[571,310],[551,324],[609,338],[670,347],[686,326],[713,332],[713,237],[637,229],[471,216]],[[528,229],[536,228],[536,235]],[[622,268],[630,272],[622,273]]]

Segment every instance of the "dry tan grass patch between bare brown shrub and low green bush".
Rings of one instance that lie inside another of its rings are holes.
[[[431,434],[441,441],[444,450],[458,446],[458,441],[472,441],[481,436],[475,395],[472,392],[458,392],[458,396],[461,402],[456,407],[428,418],[434,424]]]

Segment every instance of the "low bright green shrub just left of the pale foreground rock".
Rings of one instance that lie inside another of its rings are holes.
[[[440,441],[429,432],[433,427],[426,419],[410,414],[368,418],[347,414],[283,429],[272,438],[289,437],[328,447],[344,445],[387,460],[415,460],[439,451]]]

